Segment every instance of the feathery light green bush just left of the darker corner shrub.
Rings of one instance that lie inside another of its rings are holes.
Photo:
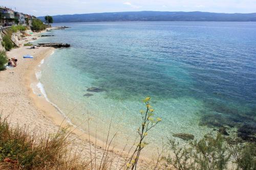
[[[221,134],[216,138],[205,136],[203,139],[190,142],[191,148],[179,148],[179,143],[169,140],[169,147],[174,157],[168,157],[167,162],[177,169],[226,169],[231,154],[225,139]]]

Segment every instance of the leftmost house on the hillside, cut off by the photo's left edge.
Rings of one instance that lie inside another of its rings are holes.
[[[15,24],[14,11],[10,8],[0,7],[1,23],[3,26],[12,26]]]

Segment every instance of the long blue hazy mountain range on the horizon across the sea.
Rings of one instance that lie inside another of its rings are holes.
[[[38,17],[45,20],[44,16]],[[105,12],[91,14],[55,15],[54,22],[99,21],[256,21],[256,13],[210,13],[210,12]]]

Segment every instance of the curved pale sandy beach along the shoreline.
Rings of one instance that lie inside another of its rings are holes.
[[[38,35],[34,34],[29,39],[33,37],[38,38]],[[41,60],[49,57],[55,49],[52,47],[30,49],[30,46],[23,45],[27,42],[20,41],[20,43],[22,44],[20,47],[6,53],[9,59],[15,57],[18,60],[17,67],[7,68],[0,72],[0,112],[3,117],[8,116],[13,126],[29,127],[29,129],[37,129],[41,133],[57,132],[60,125],[66,127],[70,124],[57,108],[43,96],[35,94],[31,88],[31,84],[38,81],[35,76],[36,68],[38,68]],[[27,54],[34,58],[24,59],[23,56]],[[71,147],[81,152],[81,156],[88,160],[90,159],[90,150],[93,153],[96,152],[96,157],[100,161],[104,143],[97,140],[95,148],[95,138],[91,136],[90,148],[88,134],[75,127],[71,127],[71,131],[72,133],[69,136],[72,141]],[[120,149],[114,149],[113,151],[111,152],[111,157],[114,158],[113,165],[116,163],[123,165],[126,156],[120,156],[119,153],[122,152]]]

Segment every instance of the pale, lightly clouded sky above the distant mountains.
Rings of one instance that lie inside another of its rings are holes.
[[[35,16],[123,11],[256,12],[256,0],[1,0],[0,6]]]

